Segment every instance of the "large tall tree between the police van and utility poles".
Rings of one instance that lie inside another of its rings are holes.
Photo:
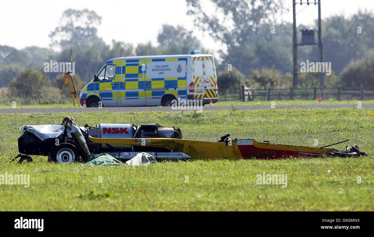
[[[220,51],[223,65],[232,64],[246,76],[264,67],[291,70],[292,51],[284,46],[289,44],[287,40],[291,42],[292,25],[274,20],[284,10],[282,1],[210,0],[213,15],[200,0],[186,1],[187,14],[194,17],[195,25],[227,47]]]

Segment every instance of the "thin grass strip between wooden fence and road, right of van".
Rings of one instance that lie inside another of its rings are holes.
[[[274,101],[275,105],[318,105],[318,99],[316,100],[271,100],[271,101],[220,101],[218,98],[218,102],[214,103],[213,105],[270,105],[270,103]],[[335,99],[324,99],[322,100],[322,104],[357,104],[358,101],[361,100],[349,100],[349,101],[337,101]],[[374,100],[362,100],[361,104],[374,104]]]

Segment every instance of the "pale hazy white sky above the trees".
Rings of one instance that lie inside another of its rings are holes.
[[[285,3],[290,11],[283,19],[292,22],[292,0],[285,0]],[[148,41],[156,45],[162,24],[179,24],[193,30],[194,36],[199,38],[205,47],[214,51],[221,48],[208,34],[195,29],[192,18],[186,15],[187,6],[184,0],[0,0],[0,6],[0,45],[17,49],[27,46],[49,47],[48,35],[59,25],[62,12],[68,8],[88,8],[98,13],[102,17],[98,35],[108,44],[115,39],[132,43],[134,46]],[[321,0],[321,6],[323,19],[340,14],[350,16],[358,12],[358,9],[374,10],[374,1]],[[305,7],[306,4],[298,5],[296,12]],[[318,9],[311,4],[297,15],[297,23],[311,24],[317,16]]]

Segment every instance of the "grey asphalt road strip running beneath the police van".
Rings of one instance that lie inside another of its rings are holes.
[[[373,108],[374,104],[361,104],[361,108]],[[270,105],[237,105],[237,110],[270,109]],[[293,108],[357,108],[357,104],[336,104],[336,105],[275,105],[275,109]],[[232,110],[231,105],[203,106],[206,110]],[[0,114],[13,113],[34,113],[34,112],[84,112],[84,111],[110,111],[110,112],[131,112],[131,111],[166,111],[176,112],[172,107],[104,107],[104,108],[22,108],[22,109],[0,109]]]

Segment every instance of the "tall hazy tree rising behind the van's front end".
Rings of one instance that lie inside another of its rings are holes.
[[[133,56],[134,47],[120,41],[112,41],[111,45],[97,36],[97,27],[101,17],[94,11],[66,10],[61,18],[62,25],[50,34],[51,46],[61,48],[58,62],[70,60],[70,49],[73,50],[75,71],[83,81],[90,81],[93,75],[111,58]],[[53,77],[58,74],[53,74]]]

